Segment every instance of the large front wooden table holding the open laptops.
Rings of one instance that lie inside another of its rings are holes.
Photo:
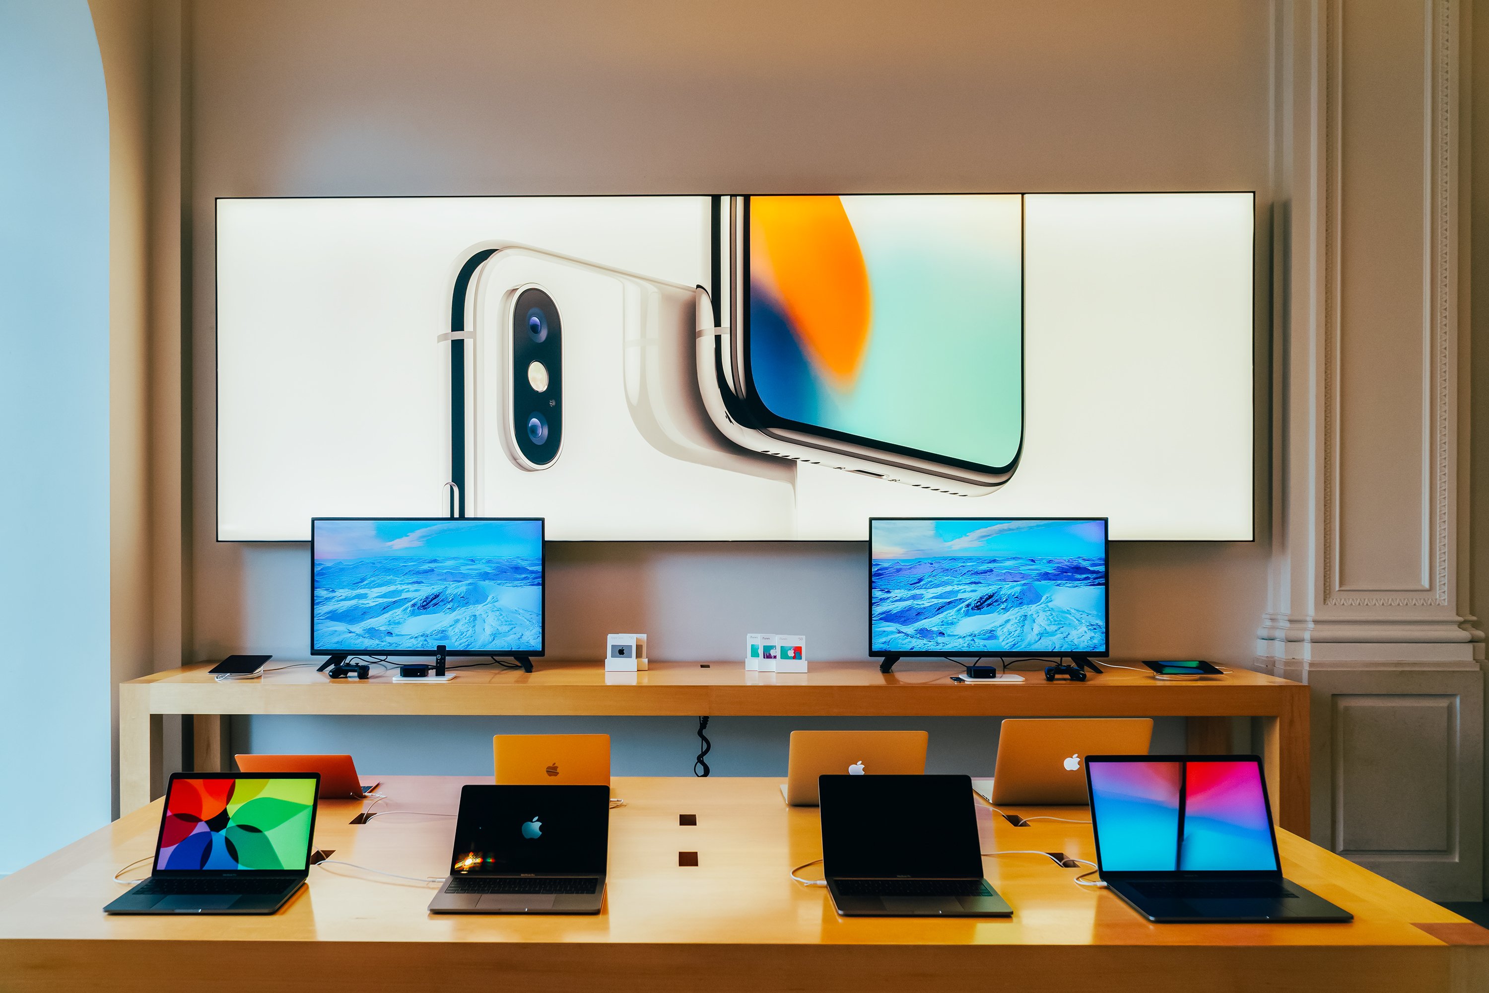
[[[322,801],[316,846],[442,877],[454,820],[411,811],[453,814],[471,782],[490,780],[384,777],[386,814],[357,826],[363,802]],[[983,861],[1010,920],[840,919],[788,878],[822,849],[817,811],[788,808],[779,782],[616,779],[605,910],[587,917],[436,917],[432,884],[345,865],[313,868],[271,917],[106,917],[113,872],[153,850],[156,801],[0,880],[0,990],[1489,990],[1489,930],[1288,832],[1286,875],[1354,923],[1150,925],[1029,855]],[[1094,858],[1087,825],[978,807],[984,852]],[[935,844],[935,825],[884,844]]]

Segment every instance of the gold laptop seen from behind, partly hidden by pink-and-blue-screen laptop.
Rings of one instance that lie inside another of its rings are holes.
[[[1152,718],[1004,721],[993,779],[972,789],[995,807],[1085,804],[1087,755],[1147,755]]]

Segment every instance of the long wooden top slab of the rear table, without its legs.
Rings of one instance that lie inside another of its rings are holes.
[[[1281,716],[1307,707],[1307,686],[1249,670],[1196,682],[1106,668],[1084,683],[1044,680],[1024,662],[1023,683],[966,686],[960,667],[901,661],[812,662],[812,671],[752,673],[743,662],[652,662],[606,673],[597,661],[533,660],[536,671],[460,668],[448,683],[328,680],[319,662],[274,660],[258,680],[216,682],[208,662],[124,683],[150,713],[357,715],[637,715],[637,716]],[[463,664],[463,662],[457,662]],[[1117,665],[1136,662],[1115,661]]]

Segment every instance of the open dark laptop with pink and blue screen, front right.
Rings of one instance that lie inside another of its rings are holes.
[[[1348,922],[1282,878],[1255,755],[1088,755],[1096,862],[1152,922]]]

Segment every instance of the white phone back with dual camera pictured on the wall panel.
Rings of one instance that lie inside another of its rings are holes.
[[[703,409],[700,292],[532,246],[462,252],[445,338],[465,514],[543,508],[564,539],[791,533],[794,463]]]

